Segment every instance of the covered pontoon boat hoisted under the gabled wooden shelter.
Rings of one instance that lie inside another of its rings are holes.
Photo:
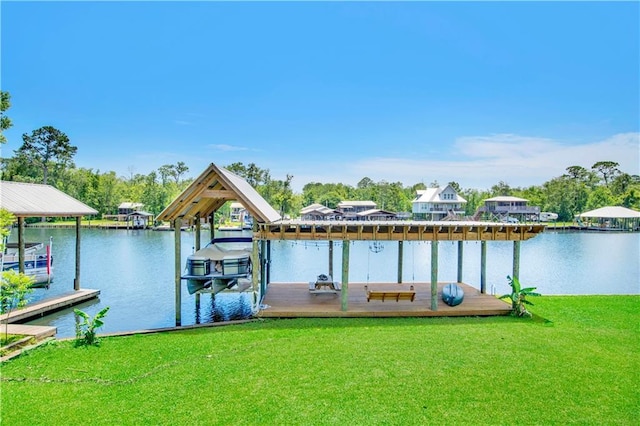
[[[202,289],[231,288],[251,275],[251,237],[214,238],[187,257],[185,274],[189,294]]]

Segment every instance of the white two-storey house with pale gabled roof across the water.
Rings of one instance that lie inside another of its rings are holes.
[[[411,202],[413,216],[427,220],[442,220],[449,215],[463,216],[466,203],[467,200],[458,195],[451,185],[419,189]]]

